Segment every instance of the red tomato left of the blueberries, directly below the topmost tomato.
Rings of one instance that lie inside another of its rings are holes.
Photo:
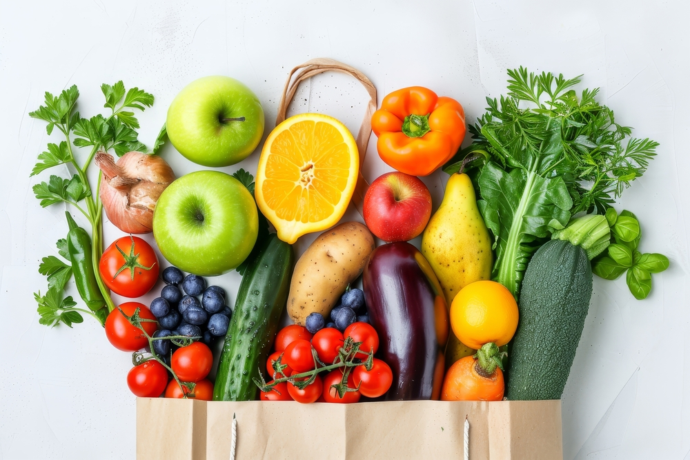
[[[143,303],[125,302],[119,308],[128,317],[131,317],[135,310],[139,308],[140,318],[152,319],[154,321],[156,319],[151,310]],[[158,328],[158,323],[142,322],[141,326],[144,326],[147,334],[153,335]],[[122,313],[117,308],[112,310],[106,318],[106,337],[108,337],[108,341],[112,343],[112,346],[124,352],[135,352],[148,345],[148,339],[144,332],[132,326],[132,323],[122,316]]]

